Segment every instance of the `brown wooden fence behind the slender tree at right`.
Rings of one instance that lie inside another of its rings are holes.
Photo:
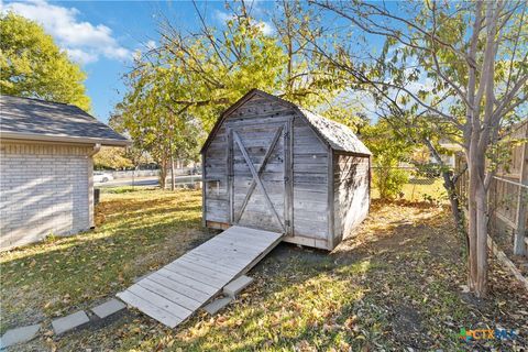
[[[512,138],[528,138],[528,121],[519,124]],[[457,170],[464,169],[465,157],[458,155],[455,164]],[[466,207],[468,172],[459,178],[457,191]],[[506,254],[518,253],[514,251],[516,244],[528,245],[528,143],[513,147],[509,162],[498,166],[490,185],[487,204],[490,234],[503,246]]]

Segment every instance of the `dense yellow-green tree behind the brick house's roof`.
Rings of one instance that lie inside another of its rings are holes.
[[[0,15],[0,90],[4,95],[76,105],[88,111],[85,73],[37,23]]]

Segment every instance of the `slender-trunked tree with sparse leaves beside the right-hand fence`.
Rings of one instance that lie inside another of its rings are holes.
[[[515,112],[526,118],[528,2],[409,1],[397,11],[385,2],[312,3],[350,24],[329,34],[336,44],[330,50],[312,41],[341,79],[371,91],[403,119],[433,118],[430,131],[439,127],[462,146],[469,172],[468,282],[476,296],[486,296],[487,191],[495,174],[486,156],[505,138]],[[374,36],[386,40],[382,56],[367,47]],[[522,242],[517,235],[517,254],[525,252]]]

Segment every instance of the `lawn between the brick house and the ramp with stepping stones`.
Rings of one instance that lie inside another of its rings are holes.
[[[96,230],[2,253],[0,329],[111,296],[212,235],[200,229],[198,193],[161,195],[106,200]]]

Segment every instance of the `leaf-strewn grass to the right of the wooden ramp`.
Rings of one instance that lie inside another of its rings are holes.
[[[524,296],[505,302],[513,297],[504,286],[494,286],[484,305],[464,299],[459,286],[465,266],[449,213],[439,207],[375,204],[359,233],[366,240],[346,239],[333,253],[278,245],[250,273],[256,283],[237,304],[210,320],[196,317],[182,326],[173,336],[175,345],[196,351],[472,350],[484,342],[468,345],[458,333],[482,324],[483,317],[487,323],[522,327],[508,315]],[[150,340],[143,343],[152,346]]]

